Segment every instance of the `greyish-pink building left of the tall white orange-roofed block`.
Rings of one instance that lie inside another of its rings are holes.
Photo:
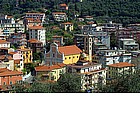
[[[7,38],[7,41],[17,46],[27,45],[26,34],[24,33],[13,33]]]

